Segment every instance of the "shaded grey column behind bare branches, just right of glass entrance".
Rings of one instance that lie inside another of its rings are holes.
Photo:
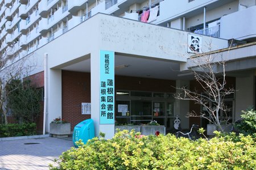
[[[176,87],[186,86],[189,89],[189,80],[176,80]],[[176,95],[181,93],[176,90]],[[186,117],[189,112],[189,100],[175,100],[175,114],[180,116],[181,128],[189,129],[189,118]]]

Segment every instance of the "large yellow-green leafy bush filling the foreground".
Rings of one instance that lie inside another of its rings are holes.
[[[50,169],[254,169],[256,147],[250,136],[234,133],[209,141],[172,134],[135,138],[123,130],[112,139],[93,138],[63,152]],[[139,135],[137,133],[136,135]]]

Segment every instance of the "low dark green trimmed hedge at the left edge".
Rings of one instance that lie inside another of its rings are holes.
[[[20,136],[28,136],[28,135],[36,135],[36,124],[7,124],[0,125],[0,138],[5,137],[20,137]]]

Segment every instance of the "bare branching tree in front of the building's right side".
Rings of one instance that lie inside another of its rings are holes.
[[[185,44],[185,48],[189,45]],[[160,46],[163,50],[162,46]],[[217,125],[222,133],[224,133],[224,128],[221,124],[228,124],[230,117],[227,113],[230,111],[230,108],[226,107],[224,104],[224,98],[226,95],[232,94],[235,90],[234,88],[226,88],[226,72],[225,66],[228,56],[223,56],[220,50],[212,50],[213,45],[210,41],[207,45],[204,46],[204,49],[207,49],[208,52],[204,52],[203,48],[201,52],[195,53],[193,56],[189,54],[183,54],[176,52],[180,56],[187,58],[187,65],[189,66],[189,73],[192,73],[195,76],[196,82],[200,84],[203,88],[203,92],[198,90],[189,90],[186,87],[175,87],[177,90],[181,90],[181,93],[177,94],[176,99],[181,100],[192,100],[195,101],[195,104],[200,104],[205,108],[206,112],[196,113],[194,111],[188,113],[188,117],[203,117],[212,122],[214,125]],[[214,48],[216,48],[214,46]],[[172,52],[174,52],[172,50]],[[173,53],[172,53],[173,54]],[[209,105],[209,101],[213,105]],[[223,111],[226,114],[224,120],[220,121],[220,112]],[[210,118],[207,116],[209,115]]]

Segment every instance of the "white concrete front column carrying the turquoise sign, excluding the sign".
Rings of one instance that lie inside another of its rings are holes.
[[[90,93],[91,93],[91,118],[94,122],[95,136],[100,131],[105,133],[106,139],[114,137],[114,124],[100,125],[100,50],[90,54]]]

